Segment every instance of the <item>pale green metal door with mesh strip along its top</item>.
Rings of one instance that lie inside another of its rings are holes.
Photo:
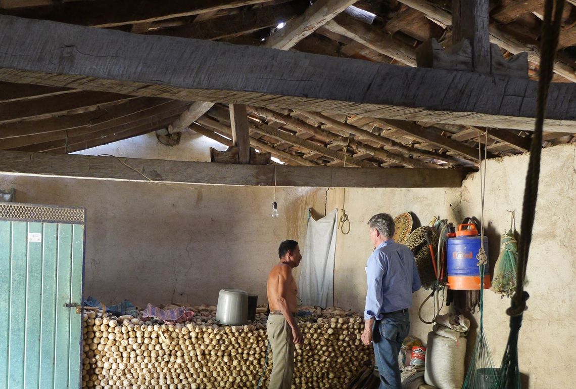
[[[0,202],[0,388],[81,386],[85,212]]]

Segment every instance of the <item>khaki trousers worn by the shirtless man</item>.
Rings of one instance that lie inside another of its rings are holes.
[[[294,373],[292,329],[284,315],[270,315],[266,331],[272,346],[272,373],[268,389],[290,389]]]

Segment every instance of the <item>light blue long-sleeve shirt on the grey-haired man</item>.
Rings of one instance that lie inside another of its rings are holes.
[[[410,248],[386,240],[376,247],[366,266],[368,292],[365,319],[382,319],[382,313],[412,306],[412,293],[420,289],[420,277]]]

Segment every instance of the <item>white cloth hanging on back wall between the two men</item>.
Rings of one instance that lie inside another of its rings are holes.
[[[308,213],[308,228],[304,254],[300,264],[300,299],[304,305],[331,307],[334,305],[334,256],[336,254],[336,226],[338,210],[320,220]]]

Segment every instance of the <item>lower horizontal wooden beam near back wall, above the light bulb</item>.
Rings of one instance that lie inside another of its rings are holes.
[[[127,167],[126,165],[129,167]],[[0,172],[147,182],[287,187],[459,188],[465,169],[347,169],[214,164],[66,154],[0,152]]]

